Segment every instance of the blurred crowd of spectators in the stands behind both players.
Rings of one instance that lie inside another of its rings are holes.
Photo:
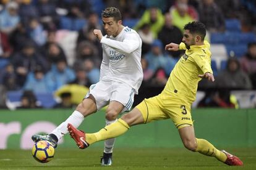
[[[221,60],[220,67],[211,63],[215,83],[202,81],[198,86],[206,92],[198,107],[238,108],[231,90],[256,89],[254,1],[4,0],[0,4],[1,94],[22,91],[19,108],[36,108],[40,106],[33,93],[54,93],[67,84],[89,87],[98,82],[102,49],[93,30],[103,30],[100,14],[108,6],[120,9],[124,25],[137,30],[142,38],[144,77],[139,98],[150,97],[148,89],[163,89],[183,54],[166,52],[164,46],[179,44],[183,26],[193,20],[205,24],[212,44],[228,43],[228,58]],[[75,38],[65,44],[67,34],[72,33]],[[55,107],[73,107],[70,93],[59,95],[63,105]],[[6,95],[0,98],[0,107],[6,108]]]

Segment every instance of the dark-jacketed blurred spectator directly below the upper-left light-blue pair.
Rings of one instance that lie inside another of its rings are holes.
[[[49,69],[46,60],[36,52],[33,42],[23,42],[23,44],[22,51],[17,52],[12,59],[18,84],[21,87],[25,83],[27,74],[30,71],[34,71],[38,65],[43,68],[44,72]]]

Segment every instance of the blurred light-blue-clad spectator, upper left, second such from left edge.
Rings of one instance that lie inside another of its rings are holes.
[[[38,22],[36,18],[31,18],[29,21],[30,38],[32,38],[38,46],[43,46],[46,42],[46,34],[43,30],[43,26]]]

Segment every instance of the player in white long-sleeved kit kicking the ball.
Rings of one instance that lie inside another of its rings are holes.
[[[140,63],[142,40],[136,31],[122,25],[121,13],[115,7],[103,10],[101,18],[106,35],[103,36],[101,30],[93,31],[103,47],[100,81],[90,86],[88,94],[66,121],[56,127],[51,134],[33,135],[34,142],[48,140],[57,147],[58,140],[68,133],[68,123],[78,127],[86,116],[108,105],[106,125],[109,125],[117,120],[119,113],[132,107],[134,94],[138,94],[143,79]],[[105,140],[102,165],[112,164],[114,140]]]

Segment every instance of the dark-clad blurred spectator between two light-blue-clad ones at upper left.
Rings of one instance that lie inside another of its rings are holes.
[[[17,28],[9,35],[9,41],[14,48],[14,52],[22,50],[24,42],[32,41],[26,31],[25,25],[19,22]]]

